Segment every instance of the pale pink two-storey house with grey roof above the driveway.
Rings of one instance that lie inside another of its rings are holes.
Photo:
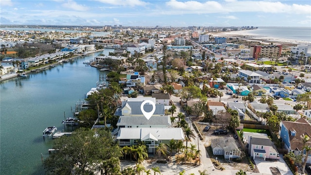
[[[255,159],[256,157],[279,159],[278,152],[272,141],[263,135],[252,135],[248,137],[248,154]]]

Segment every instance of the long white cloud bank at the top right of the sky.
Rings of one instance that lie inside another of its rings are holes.
[[[227,13],[227,12],[264,12],[264,13],[290,13],[310,14],[311,5],[286,4],[271,1],[177,1],[170,0],[166,5],[174,10],[183,10],[182,13]]]

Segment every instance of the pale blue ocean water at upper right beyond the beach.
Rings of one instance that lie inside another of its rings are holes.
[[[247,34],[311,42],[311,27],[258,27]]]

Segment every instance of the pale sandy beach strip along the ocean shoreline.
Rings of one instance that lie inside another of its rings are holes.
[[[252,30],[242,30],[242,31],[230,31],[230,32],[218,32],[210,33],[213,37],[232,37],[244,39],[247,41],[261,41],[264,44],[311,44],[311,41],[294,40],[287,38],[278,38],[271,36],[263,36],[251,33]]]

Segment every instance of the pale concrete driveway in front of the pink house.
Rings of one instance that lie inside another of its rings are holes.
[[[293,173],[291,172],[290,168],[287,166],[281,155],[280,159],[275,162],[258,160],[255,158],[255,163],[257,165],[259,172],[264,175],[272,175],[270,167],[276,167],[282,175],[293,175]]]

